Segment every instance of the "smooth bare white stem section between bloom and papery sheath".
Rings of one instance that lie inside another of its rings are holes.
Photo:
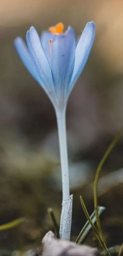
[[[67,155],[67,136],[66,136],[66,109],[57,110],[57,126],[59,135],[60,147],[60,162],[62,172],[62,192],[63,200],[70,196],[69,186],[69,170],[68,170],[68,155]]]

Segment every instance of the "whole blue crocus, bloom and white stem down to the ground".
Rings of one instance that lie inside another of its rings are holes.
[[[69,187],[66,106],[88,59],[95,36],[95,24],[86,24],[78,42],[72,27],[68,27],[65,33],[63,28],[62,23],[56,24],[49,31],[44,31],[40,38],[35,28],[31,27],[26,35],[27,46],[19,37],[15,39],[15,47],[27,70],[45,90],[55,108],[63,191],[60,238],[70,240],[73,195],[70,195]]]

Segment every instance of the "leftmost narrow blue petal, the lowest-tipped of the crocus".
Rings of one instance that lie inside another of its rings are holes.
[[[20,59],[24,63],[25,67],[27,68],[27,70],[31,73],[31,75],[34,77],[34,79],[38,83],[40,83],[41,81],[40,81],[40,77],[39,77],[36,65],[32,61],[29,51],[27,49],[27,46],[25,45],[23,39],[21,37],[17,37],[14,40],[14,46],[16,48],[16,51],[17,51]]]

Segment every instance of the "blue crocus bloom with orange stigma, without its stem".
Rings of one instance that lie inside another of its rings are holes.
[[[20,59],[42,86],[54,108],[64,108],[75,82],[88,59],[95,36],[94,22],[88,22],[76,44],[72,27],[63,33],[63,24],[44,31],[41,38],[34,27],[14,41]]]

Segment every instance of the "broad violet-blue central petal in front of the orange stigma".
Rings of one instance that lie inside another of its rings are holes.
[[[58,98],[65,99],[75,59],[75,35],[69,27],[64,34],[54,35],[51,48],[52,79]]]

